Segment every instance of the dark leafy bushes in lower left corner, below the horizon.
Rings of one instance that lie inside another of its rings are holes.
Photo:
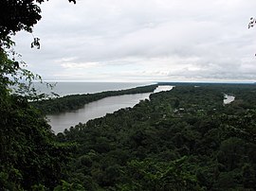
[[[55,141],[46,120],[23,96],[1,95],[0,116],[0,187],[54,187],[72,146]]]

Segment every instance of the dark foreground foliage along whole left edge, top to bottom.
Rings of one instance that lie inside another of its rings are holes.
[[[44,0],[0,2],[0,190],[52,190],[64,176],[70,144],[59,143],[28,101],[42,98],[31,86],[42,80],[25,69],[10,35],[32,31]],[[34,45],[39,45],[37,39]]]

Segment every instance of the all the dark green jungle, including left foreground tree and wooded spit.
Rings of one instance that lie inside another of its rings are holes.
[[[38,95],[32,81],[42,78],[17,59],[12,37],[32,32],[44,2],[0,1],[1,191],[256,190],[256,84],[160,83],[175,87],[54,134],[47,113],[157,85]],[[225,95],[234,101],[224,104]]]

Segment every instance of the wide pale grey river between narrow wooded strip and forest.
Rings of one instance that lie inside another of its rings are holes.
[[[161,91],[168,91],[173,89],[173,86],[158,86],[154,93]],[[109,96],[85,104],[82,109],[47,115],[48,123],[55,133],[62,132],[64,129],[69,129],[80,122],[86,123],[90,119],[104,116],[106,113],[114,113],[121,108],[134,107],[140,100],[148,99],[152,93],[123,95],[123,96]]]

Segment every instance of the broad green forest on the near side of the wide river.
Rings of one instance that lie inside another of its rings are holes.
[[[51,134],[46,143],[55,147],[41,162],[34,164],[41,148],[25,147],[35,155],[13,164],[20,179],[5,183],[45,190],[255,190],[256,86],[172,85],[134,108]],[[236,98],[224,105],[224,94]],[[21,157],[18,148],[12,152]]]

